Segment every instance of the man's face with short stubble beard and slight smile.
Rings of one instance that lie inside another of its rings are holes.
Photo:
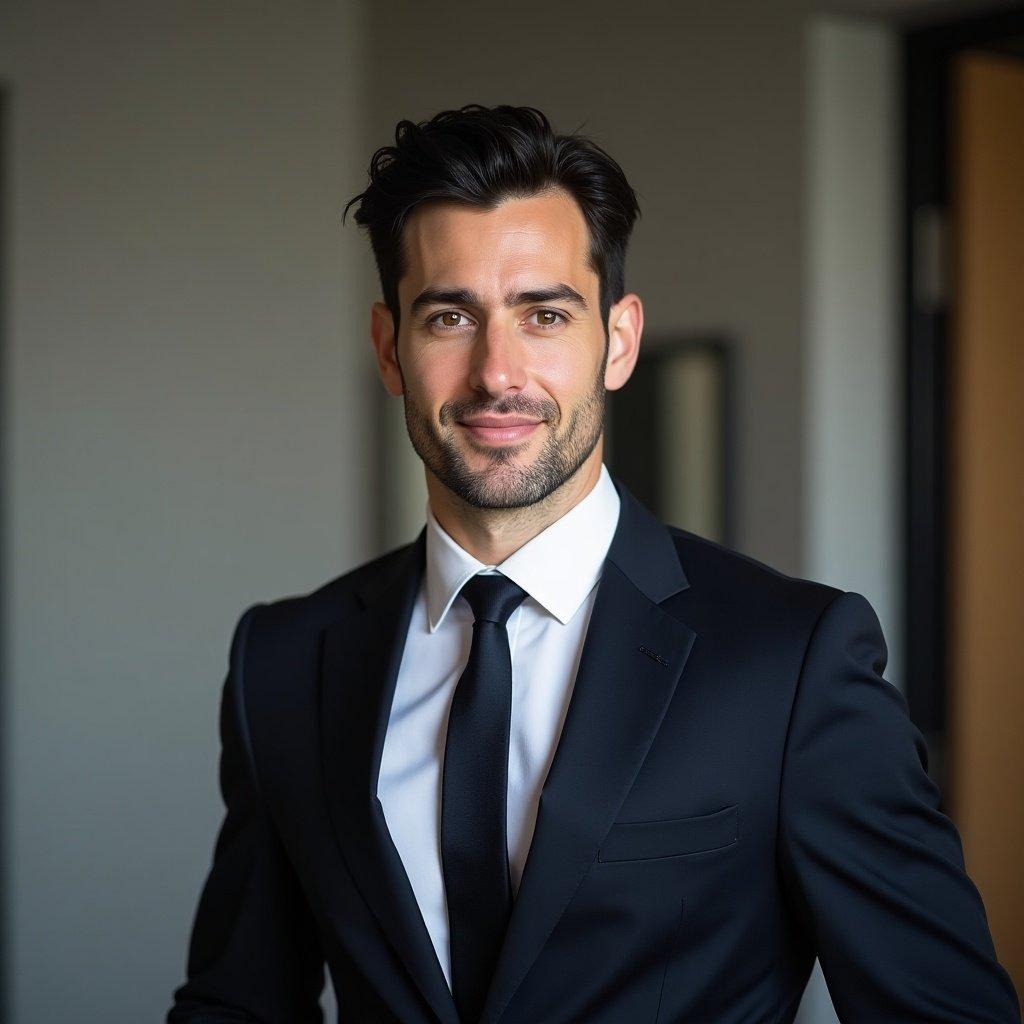
[[[406,422],[427,469],[470,505],[539,502],[601,439],[606,336],[589,244],[564,191],[493,210],[430,203],[406,223]],[[386,373],[385,383],[397,393]]]

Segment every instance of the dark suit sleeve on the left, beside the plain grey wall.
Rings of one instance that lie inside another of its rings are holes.
[[[168,1024],[323,1022],[316,925],[260,796],[246,722],[246,638],[260,607],[242,615],[231,640],[220,699],[225,814]]]

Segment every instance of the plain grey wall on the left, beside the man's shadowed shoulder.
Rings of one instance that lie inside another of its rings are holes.
[[[230,631],[368,557],[358,16],[3,5],[11,1024],[163,1019]]]

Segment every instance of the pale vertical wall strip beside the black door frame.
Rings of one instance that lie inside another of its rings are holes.
[[[806,43],[804,566],[871,602],[902,688],[898,39],[819,15]],[[837,1021],[819,966],[798,1021]]]

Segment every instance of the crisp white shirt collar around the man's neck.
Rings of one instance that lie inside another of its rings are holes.
[[[601,463],[597,483],[582,501],[500,565],[484,565],[437,522],[428,501],[426,587],[430,632],[440,627],[466,581],[485,569],[498,569],[562,625],[567,623],[601,578],[601,566],[618,523],[620,504],[618,492]]]

